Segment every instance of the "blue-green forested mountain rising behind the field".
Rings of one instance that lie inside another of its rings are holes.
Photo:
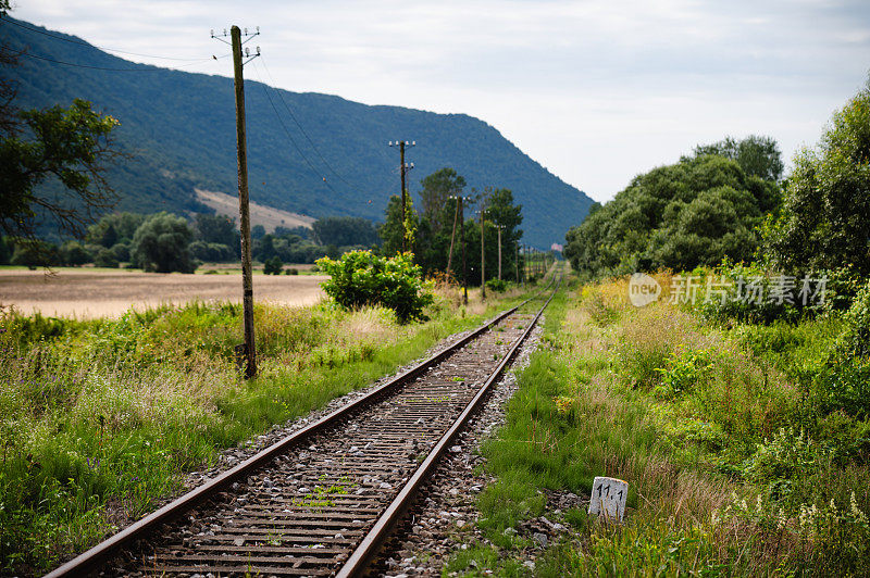
[[[12,18],[0,28],[11,48],[26,50],[17,67],[4,71],[20,83],[20,108],[69,105],[78,97],[121,121],[119,143],[134,156],[110,173],[120,210],[209,211],[195,188],[235,192],[231,78],[135,64]],[[229,60],[223,62],[228,71]],[[407,139],[418,143],[408,154],[415,165],[411,191],[444,166],[465,177],[467,191],[509,188],[523,205],[523,240],[537,247],[561,242],[592,204],[477,118],[275,90],[251,80],[252,65],[246,76],[250,197],[258,203],[313,217],[382,221],[399,188],[398,151],[387,141]]]

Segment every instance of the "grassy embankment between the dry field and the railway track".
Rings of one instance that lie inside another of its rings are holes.
[[[182,489],[184,473],[273,424],[363,387],[519,300],[468,310],[443,291],[426,323],[330,305],[254,309],[259,376],[233,347],[240,306],[117,319],[0,314],[0,574],[41,573]]]

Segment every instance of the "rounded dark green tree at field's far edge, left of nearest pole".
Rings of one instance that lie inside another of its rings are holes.
[[[170,213],[149,216],[136,229],[130,253],[146,272],[194,273],[188,246],[194,233],[183,217]]]

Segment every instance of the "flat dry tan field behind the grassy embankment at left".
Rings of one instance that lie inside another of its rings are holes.
[[[253,276],[253,298],[290,305],[310,305],[323,297],[320,275]],[[162,303],[241,301],[241,275],[182,275],[141,272],[61,269],[0,271],[0,305],[22,313],[91,318],[117,316],[130,306]]]

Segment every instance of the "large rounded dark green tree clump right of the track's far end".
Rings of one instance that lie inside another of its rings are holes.
[[[775,183],[747,175],[736,161],[704,154],[655,168],[568,235],[564,256],[587,276],[712,266],[747,261],[756,228],[775,208]]]

